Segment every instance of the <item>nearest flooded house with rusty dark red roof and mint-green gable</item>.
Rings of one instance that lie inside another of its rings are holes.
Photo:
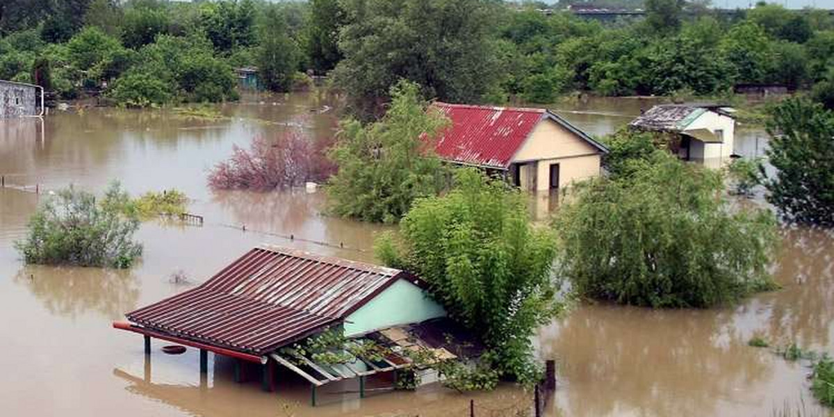
[[[364,395],[365,378],[409,365],[408,355],[397,353],[403,349],[455,358],[445,345],[450,340],[437,335],[450,327],[445,315],[412,274],[270,246],[249,250],[204,284],[130,312],[130,323],[113,327],[143,334],[146,355],[151,339],[199,349],[203,374],[208,352],[233,358],[239,382],[243,363],[257,364],[265,390],[274,387],[274,368],[283,366],[309,382],[315,404],[317,387],[344,379],[359,379]],[[355,344],[372,340],[386,353],[336,364],[287,349],[325,330]]]

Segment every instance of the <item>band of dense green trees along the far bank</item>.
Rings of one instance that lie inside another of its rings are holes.
[[[717,14],[702,3],[649,0],[646,18],[600,23],[495,0],[8,0],[0,79],[64,98],[106,86],[118,103],[145,106],[234,99],[234,67],[257,66],[275,91],[304,85],[306,70],[334,70],[361,118],[382,113],[400,78],[453,102],[782,83],[834,105],[830,15],[776,4]]]

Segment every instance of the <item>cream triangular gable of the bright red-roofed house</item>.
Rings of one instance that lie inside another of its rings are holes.
[[[597,153],[600,153],[600,149],[585,138],[556,123],[552,118],[542,118],[515,153],[512,161],[570,158]]]

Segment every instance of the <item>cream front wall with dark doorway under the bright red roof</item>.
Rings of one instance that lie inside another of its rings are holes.
[[[559,164],[559,187],[600,174],[600,150],[559,123],[547,119],[530,133],[530,138],[513,158],[524,163],[520,169],[521,188],[550,189],[550,165]]]

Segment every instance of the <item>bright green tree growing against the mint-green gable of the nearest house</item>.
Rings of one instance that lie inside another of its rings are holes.
[[[553,234],[530,224],[525,197],[461,168],[449,193],[414,203],[400,234],[377,242],[379,258],[425,279],[450,317],[495,354],[502,374],[535,383],[531,339],[564,305],[550,278]]]

